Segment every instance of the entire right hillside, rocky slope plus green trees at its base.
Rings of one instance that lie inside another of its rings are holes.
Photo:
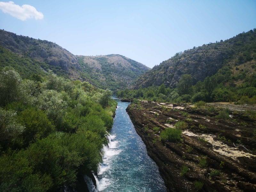
[[[225,54],[223,50],[226,50]],[[201,52],[201,62],[194,58],[195,52],[199,51]],[[211,64],[202,62],[216,52],[226,55],[226,59],[222,59],[221,64],[218,64],[216,60],[212,60]],[[230,54],[227,56],[228,52]],[[203,55],[208,56],[203,57]],[[190,58],[188,65],[180,64],[186,60],[185,58]],[[196,66],[195,63],[197,63]],[[176,54],[172,59],[164,61],[142,75],[135,84],[135,87],[139,82],[142,87],[150,86],[134,90],[126,89],[119,91],[117,95],[122,98],[139,98],[159,102],[227,101],[253,104],[256,103],[255,64],[256,30],[254,29],[224,42],[208,44]],[[174,68],[175,71],[171,72],[171,69]],[[208,70],[211,75],[207,76]],[[166,80],[168,79],[166,75],[173,76],[169,79],[170,84],[165,84],[167,81],[160,81],[161,84],[158,86],[158,80],[152,80],[152,78]],[[144,84],[142,81],[146,78]]]

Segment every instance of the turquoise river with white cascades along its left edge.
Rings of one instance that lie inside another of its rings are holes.
[[[116,99],[116,98],[114,98]],[[118,102],[109,146],[104,148],[97,190],[103,192],[165,192],[164,181],[156,163],[136,133],[125,111],[128,102]],[[97,178],[96,178],[97,179]]]

